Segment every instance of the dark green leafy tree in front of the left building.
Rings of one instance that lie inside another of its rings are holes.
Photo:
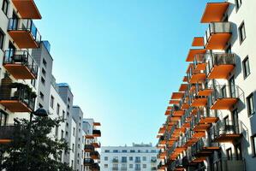
[[[0,170],[6,171],[72,171],[67,164],[60,162],[63,151],[68,151],[68,143],[64,139],[53,139],[49,136],[55,127],[59,127],[63,119],[35,117],[31,123],[31,143],[27,145],[29,121],[18,120],[13,140],[9,144],[1,144],[3,163]],[[29,150],[27,150],[29,147]]]

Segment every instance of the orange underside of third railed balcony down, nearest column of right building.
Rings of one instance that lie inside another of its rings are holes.
[[[215,103],[211,105],[211,109],[231,109],[237,102],[237,98],[218,98]]]

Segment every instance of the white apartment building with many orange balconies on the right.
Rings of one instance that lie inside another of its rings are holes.
[[[255,170],[253,0],[207,3],[158,132],[158,170]],[[201,36],[201,37],[200,37]]]

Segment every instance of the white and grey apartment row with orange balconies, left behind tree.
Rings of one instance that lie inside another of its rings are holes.
[[[53,139],[66,139],[71,149],[63,151],[61,161],[76,171],[85,170],[85,115],[73,105],[69,85],[57,84],[52,75],[51,44],[41,40],[33,23],[41,19],[39,9],[33,0],[0,0],[0,7],[0,144],[11,140],[4,130],[15,128],[15,118],[29,119],[31,112],[44,108],[51,114],[49,117],[65,119],[50,135]],[[27,96],[30,88],[37,97]],[[99,135],[91,134],[90,139],[96,137]],[[86,166],[86,170],[92,170],[91,165]]]

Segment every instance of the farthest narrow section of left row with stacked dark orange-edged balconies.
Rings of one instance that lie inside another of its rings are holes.
[[[82,128],[85,134],[84,146],[84,170],[99,171],[100,155],[99,148],[101,147],[98,138],[101,137],[101,131],[98,129],[101,124],[93,119],[83,119]]]

